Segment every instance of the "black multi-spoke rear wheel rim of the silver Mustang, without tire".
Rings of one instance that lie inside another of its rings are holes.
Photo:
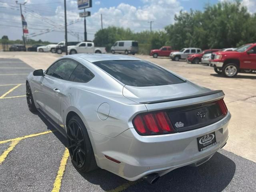
[[[86,144],[78,123],[71,120],[68,123],[68,150],[75,167],[80,168],[86,161]]]

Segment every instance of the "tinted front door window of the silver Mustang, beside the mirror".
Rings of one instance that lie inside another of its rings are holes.
[[[69,59],[62,59],[50,66],[46,74],[59,79],[68,80],[76,66],[76,62]]]

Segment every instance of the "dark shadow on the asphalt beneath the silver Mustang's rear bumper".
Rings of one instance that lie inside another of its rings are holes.
[[[125,191],[207,191],[220,192],[228,186],[236,171],[236,164],[230,158],[216,153],[206,163],[198,167],[185,166],[173,170],[162,176],[159,180],[150,185],[141,179],[130,182],[130,187]],[[100,185],[103,190],[110,190],[109,186],[116,186],[116,183],[127,183],[127,180],[120,178],[106,170],[98,169],[87,174],[80,173],[88,182]]]

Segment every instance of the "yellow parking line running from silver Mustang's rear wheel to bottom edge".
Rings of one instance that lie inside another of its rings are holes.
[[[59,167],[58,174],[57,174],[56,179],[55,179],[54,184],[53,184],[52,192],[59,192],[60,191],[61,180],[62,180],[64,171],[65,171],[65,168],[66,168],[66,164],[67,164],[67,161],[68,161],[68,156],[69,156],[69,152],[68,152],[68,149],[66,148],[65,151],[64,151],[62,160],[60,162],[60,167]]]

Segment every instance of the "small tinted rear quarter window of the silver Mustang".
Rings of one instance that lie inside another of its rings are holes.
[[[90,72],[85,66],[78,64],[72,75],[70,76],[70,81],[86,83],[94,78],[94,74]]]

